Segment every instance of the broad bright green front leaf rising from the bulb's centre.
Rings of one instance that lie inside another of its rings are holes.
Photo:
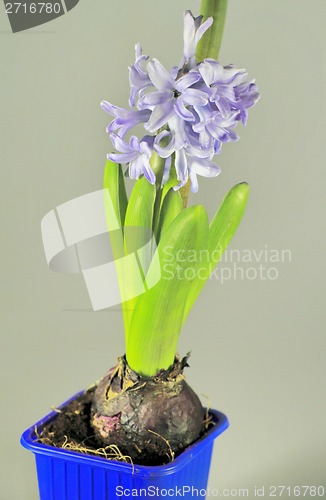
[[[173,364],[189,286],[207,239],[207,213],[200,205],[180,212],[162,235],[147,276],[160,271],[161,277],[139,297],[128,336],[127,360],[137,373],[153,376]]]

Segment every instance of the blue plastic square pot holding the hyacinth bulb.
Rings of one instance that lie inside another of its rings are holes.
[[[205,498],[214,439],[229,425],[223,413],[210,410],[210,414],[215,425],[167,465],[132,466],[38,443],[35,428],[41,430],[56,412],[27,429],[21,444],[35,454],[41,500]]]

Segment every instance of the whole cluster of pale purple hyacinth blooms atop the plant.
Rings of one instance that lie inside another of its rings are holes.
[[[179,184],[188,179],[193,192],[198,190],[197,175],[215,177],[220,168],[212,162],[224,142],[237,141],[234,131],[238,122],[246,124],[248,109],[259,99],[254,80],[247,72],[232,65],[222,66],[214,59],[196,62],[196,47],[213,19],[202,22],[190,11],[184,14],[184,51],[179,66],[170,71],[157,59],[143,55],[136,45],[136,61],[129,68],[130,109],[101,103],[104,111],[114,117],[107,131],[119,153],[108,158],[129,165],[129,176],[144,175],[155,184],[150,165],[155,151],[165,160],[162,183],[167,182],[172,166]],[[146,131],[138,140],[127,132],[139,124]]]

